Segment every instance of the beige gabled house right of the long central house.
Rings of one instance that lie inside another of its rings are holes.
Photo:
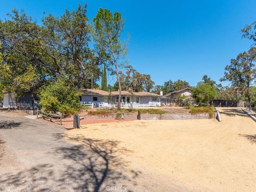
[[[191,88],[187,87],[185,89],[173,91],[171,93],[167,93],[161,97],[161,103],[162,105],[174,105],[177,104],[177,100],[180,95],[185,95],[189,97],[192,95]]]

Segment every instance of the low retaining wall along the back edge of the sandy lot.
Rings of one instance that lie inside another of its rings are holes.
[[[124,114],[125,119],[137,119],[136,114]],[[99,115],[86,115],[85,119],[115,119],[116,114],[111,114],[108,116],[99,116]],[[154,119],[209,119],[210,115],[207,113],[203,114],[141,114],[141,119],[143,120],[154,120]],[[217,113],[214,113],[212,118],[216,118]]]

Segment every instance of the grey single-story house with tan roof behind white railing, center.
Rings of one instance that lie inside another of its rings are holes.
[[[117,105],[119,91],[107,92],[102,90],[84,89],[80,101],[82,105],[109,106]],[[131,89],[122,91],[121,103],[123,107],[147,107],[147,106],[161,106],[161,95],[149,93],[146,91],[133,92]]]

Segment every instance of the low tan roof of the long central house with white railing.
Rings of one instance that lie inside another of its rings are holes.
[[[80,90],[83,94],[89,94],[89,95],[109,95],[107,91],[103,90],[94,90],[94,89],[82,89]],[[133,92],[136,96],[152,96],[152,97],[161,97],[161,95],[155,94],[155,93],[149,93],[146,91],[141,92]],[[129,91],[122,91],[122,95],[130,95],[131,92]],[[119,91],[112,91],[111,95],[119,95]]]

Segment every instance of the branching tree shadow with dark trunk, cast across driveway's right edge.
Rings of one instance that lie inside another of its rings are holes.
[[[79,178],[82,182],[74,188],[76,191],[100,191],[106,186],[115,186],[122,181],[137,185],[133,179],[138,177],[140,172],[127,171],[126,166],[129,162],[122,158],[132,151],[119,146],[119,141],[87,139],[83,135],[70,137],[65,134],[55,134],[55,137],[66,137],[68,141],[79,144],[75,147],[60,147],[53,152],[73,162],[72,165],[67,165],[62,179],[65,183],[70,182],[71,185]]]

